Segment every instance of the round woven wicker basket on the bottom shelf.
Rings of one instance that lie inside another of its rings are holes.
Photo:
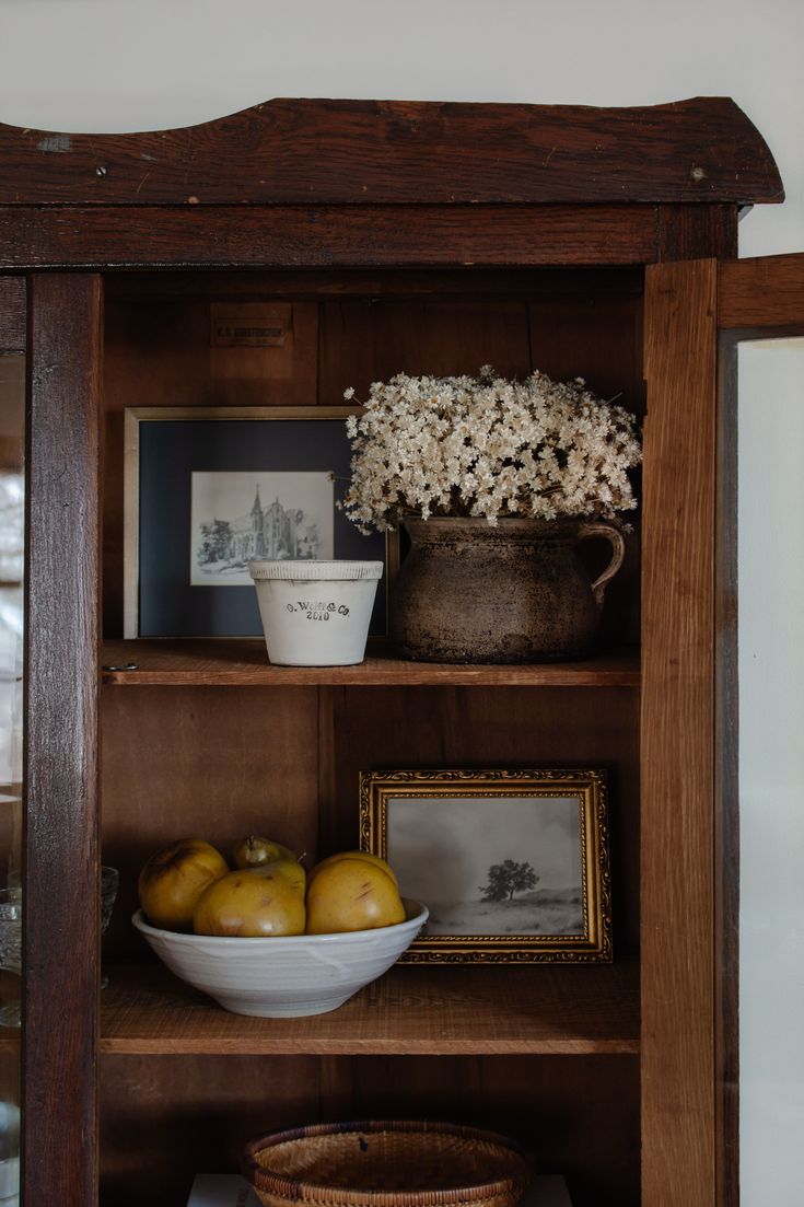
[[[528,1155],[458,1124],[317,1124],[249,1144],[245,1176],[266,1207],[513,1207]]]

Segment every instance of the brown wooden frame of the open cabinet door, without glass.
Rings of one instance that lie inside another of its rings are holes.
[[[804,255],[646,270],[642,1196],[663,1207],[740,1197],[736,349],[794,334]]]

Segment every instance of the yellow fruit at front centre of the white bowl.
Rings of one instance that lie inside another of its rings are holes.
[[[231,871],[200,896],[196,934],[304,934],[304,898],[280,871]]]

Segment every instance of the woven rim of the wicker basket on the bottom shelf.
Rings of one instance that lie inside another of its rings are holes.
[[[485,1141],[487,1143],[496,1144],[502,1149],[507,1149],[512,1155],[519,1159],[522,1162],[522,1176],[512,1173],[508,1178],[496,1178],[489,1182],[472,1182],[467,1185],[454,1186],[449,1190],[418,1190],[409,1191],[409,1195],[416,1195],[420,1197],[421,1202],[427,1203],[472,1203],[476,1200],[485,1200],[499,1194],[506,1193],[509,1188],[514,1186],[518,1182],[523,1182],[523,1189],[528,1183],[528,1179],[534,1172],[535,1162],[532,1155],[518,1141],[513,1139],[511,1136],[503,1136],[500,1132],[487,1131],[482,1127],[473,1127],[467,1124],[453,1124],[442,1120],[426,1120],[426,1119],[363,1119],[363,1120],[346,1120],[343,1123],[330,1123],[330,1124],[310,1124],[302,1127],[290,1127],[281,1132],[269,1132],[266,1136],[261,1136],[257,1139],[250,1141],[246,1144],[243,1156],[243,1168],[247,1180],[252,1185],[257,1186],[262,1179],[270,1179],[270,1188],[260,1186],[260,1189],[270,1189],[276,1193],[278,1196],[286,1199],[297,1199],[301,1201],[314,1202],[316,1201],[316,1194],[319,1195],[317,1201],[327,1201],[337,1195],[349,1195],[356,1201],[369,1203],[378,1202],[383,1196],[392,1196],[395,1194],[401,1194],[402,1191],[391,1190],[367,1190],[365,1186],[327,1186],[314,1182],[303,1182],[299,1178],[289,1178],[281,1174],[270,1173],[263,1166],[258,1165],[256,1160],[256,1154],[264,1150],[266,1148],[276,1148],[279,1144],[291,1143],[293,1141],[303,1141],[308,1138],[316,1138],[319,1136],[334,1136],[334,1135],[350,1135],[350,1133],[381,1133],[381,1132],[407,1132],[407,1133],[441,1133],[443,1136],[458,1136],[466,1139],[478,1139]],[[325,1196],[321,1199],[320,1196]]]

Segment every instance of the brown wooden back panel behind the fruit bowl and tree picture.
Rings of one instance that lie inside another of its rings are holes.
[[[105,943],[159,846],[267,832],[308,862],[359,840],[360,771],[605,768],[614,952],[639,946],[639,693],[627,688],[120,688],[103,693],[104,861],[121,869]]]

